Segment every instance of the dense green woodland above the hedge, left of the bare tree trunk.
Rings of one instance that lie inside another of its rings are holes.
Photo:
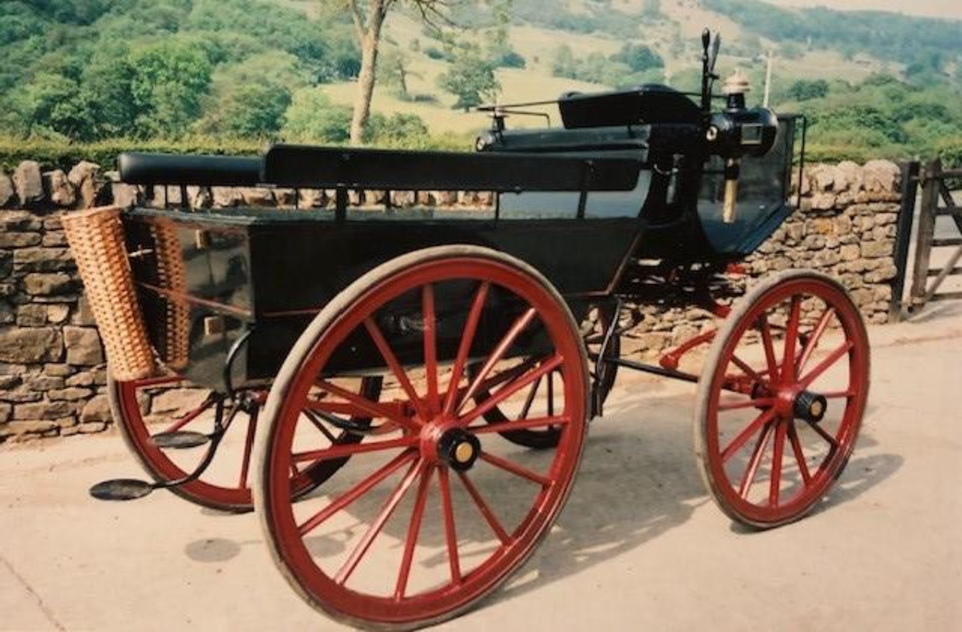
[[[80,141],[269,136],[291,90],[357,75],[350,28],[266,0],[0,2],[0,126]]]

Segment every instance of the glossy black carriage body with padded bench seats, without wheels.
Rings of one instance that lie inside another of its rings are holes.
[[[605,95],[601,106],[610,111],[595,115],[586,105],[590,99],[572,97],[569,108],[562,105],[569,129],[494,131],[479,139],[480,153],[473,155],[275,146],[263,162],[123,157],[126,182],[258,181],[339,192],[334,211],[126,213],[128,249],[141,254],[132,266],[155,345],[163,349],[169,335],[170,323],[163,318],[168,304],[187,305],[188,377],[222,388],[225,360],[235,346],[232,383],[272,377],[311,319],[352,281],[397,255],[448,244],[484,246],[529,263],[580,318],[590,302],[615,291],[630,257],[677,265],[739,259],[790,212],[794,119],[782,119],[770,156],[743,161],[747,204],[740,210],[747,212],[736,224],[722,225],[722,164],[699,149],[694,104],[679,109],[684,100],[677,94],[668,97],[671,103],[647,95],[643,101],[655,112],[652,120],[633,121],[625,118],[631,98],[622,97]],[[498,198],[487,215],[436,208],[349,212],[346,194],[354,188],[493,190]],[[172,225],[177,233],[183,287],[164,288],[156,279],[150,227],[158,224]],[[439,297],[442,358],[455,352],[472,291]],[[418,304],[401,302],[394,311],[384,315],[381,326],[401,361],[415,361],[420,334],[411,324]],[[503,318],[482,324],[473,350],[478,355],[514,316],[510,304],[491,311]],[[245,344],[238,344],[241,340]],[[537,346],[537,335],[520,343]],[[353,349],[332,366],[351,371],[382,364],[369,340],[357,340]]]

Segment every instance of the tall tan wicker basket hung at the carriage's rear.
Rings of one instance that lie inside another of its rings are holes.
[[[127,260],[119,207],[91,208],[63,216],[63,231],[77,260],[114,379],[154,374],[154,352]]]

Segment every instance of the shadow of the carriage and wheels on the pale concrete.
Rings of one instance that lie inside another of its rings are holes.
[[[692,449],[691,407],[688,394],[629,395],[606,411],[608,417],[596,420],[563,513],[519,577],[495,593],[492,602],[524,595],[643,547],[686,523],[697,507],[710,502]],[[859,456],[859,450],[876,446],[863,428],[848,468],[816,513],[859,497],[899,470],[902,458],[897,455]],[[362,528],[380,505],[373,498],[357,504],[351,514],[358,522],[352,528]],[[740,535],[756,533],[731,524]],[[459,532],[459,538],[472,539],[474,535]],[[185,553],[196,562],[223,563],[250,545],[264,543],[260,539],[205,538],[189,543]],[[318,540],[310,547],[325,556],[339,552],[342,543]],[[433,566],[446,560],[440,556],[426,562]]]

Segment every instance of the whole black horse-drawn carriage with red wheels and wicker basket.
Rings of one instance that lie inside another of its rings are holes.
[[[797,119],[747,109],[739,81],[712,112],[715,57],[706,38],[700,104],[664,86],[569,94],[564,128],[544,130],[505,129],[517,108],[501,107],[474,154],[121,157],[125,182],[336,195],[64,220],[114,419],[154,479],[91,493],[256,508],[278,568],[320,610],[373,627],[444,620],[546,536],[588,422],[630,368],[697,383],[697,462],[727,515],[797,520],[853,449],[868,341],[845,290],[814,272],[761,280],[732,306],[712,298],[792,212],[797,135]],[[356,189],[494,203],[372,212],[348,204]],[[657,365],[622,358],[622,301],[652,292],[724,321]]]

